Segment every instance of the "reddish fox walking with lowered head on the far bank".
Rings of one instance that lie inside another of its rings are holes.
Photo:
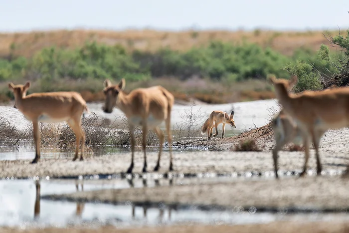
[[[228,113],[223,111],[217,111],[217,110],[212,111],[208,119],[205,121],[205,123],[201,128],[201,134],[204,135],[207,132],[207,136],[208,136],[207,140],[210,140],[212,138],[213,126],[216,129],[216,132],[213,135],[213,137],[218,135],[219,124],[223,124],[222,138],[224,138],[225,124],[230,124],[232,127],[236,128],[235,121],[234,121],[234,111],[231,111],[230,116],[228,115]]]

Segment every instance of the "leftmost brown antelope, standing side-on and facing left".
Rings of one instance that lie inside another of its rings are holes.
[[[13,92],[15,106],[27,120],[33,123],[35,141],[35,158],[31,163],[40,159],[40,129],[39,122],[58,123],[66,121],[74,131],[76,137],[76,151],[73,161],[78,158],[80,139],[82,139],[80,160],[85,145],[85,133],[81,127],[81,115],[89,112],[85,100],[77,92],[47,92],[26,95],[30,87],[27,81],[24,85],[8,83],[8,88]]]

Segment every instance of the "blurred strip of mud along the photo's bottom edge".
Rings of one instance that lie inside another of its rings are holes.
[[[235,225],[235,226],[162,226],[142,227],[132,229],[116,229],[103,227],[98,229],[86,228],[45,228],[45,229],[10,229],[0,228],[1,233],[347,233],[349,223],[332,222],[273,222],[268,224]]]

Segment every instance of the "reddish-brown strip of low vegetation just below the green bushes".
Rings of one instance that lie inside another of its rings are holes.
[[[104,101],[103,81],[100,80],[62,80],[55,83],[57,91],[77,91],[86,102]],[[119,81],[119,80],[116,80]],[[115,81],[115,82],[116,82]],[[24,83],[25,80],[16,81],[15,84]],[[176,100],[191,101],[200,100],[210,104],[223,104],[241,101],[252,101],[260,99],[275,98],[272,87],[266,81],[246,80],[235,83],[215,82],[210,79],[190,78],[180,81],[174,77],[162,77],[148,81],[127,82],[125,92],[139,87],[150,87],[161,85],[168,89]],[[92,90],[91,90],[92,89]],[[40,83],[33,81],[29,91],[42,92]],[[7,82],[0,82],[0,103],[10,101],[7,95]]]

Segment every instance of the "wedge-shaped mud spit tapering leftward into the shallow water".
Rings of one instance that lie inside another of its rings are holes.
[[[254,213],[347,212],[349,179],[341,176],[308,176],[282,180],[231,180],[200,185],[110,189],[42,196],[44,200],[111,204],[162,205],[176,209],[249,210]]]

